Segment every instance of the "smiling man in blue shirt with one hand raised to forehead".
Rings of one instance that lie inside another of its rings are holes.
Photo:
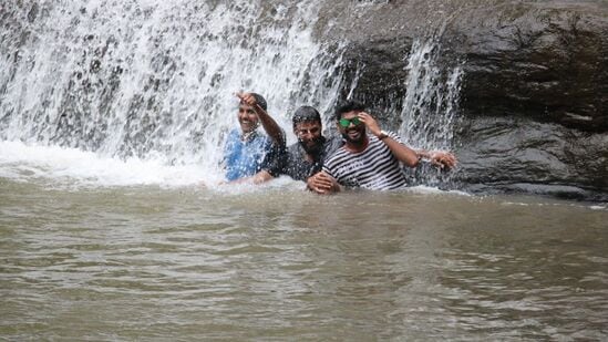
[[[233,129],[224,147],[224,166],[229,183],[270,179],[285,153],[285,133],[268,114],[266,100],[256,93],[238,93],[237,120],[240,129]],[[264,127],[267,135],[258,132]]]

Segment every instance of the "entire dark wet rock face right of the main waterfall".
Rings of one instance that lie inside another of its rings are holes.
[[[608,199],[606,1],[346,2],[328,4],[339,23],[321,21],[319,34],[350,42],[354,97],[400,113],[420,37],[434,37],[442,65],[462,65],[463,188]]]

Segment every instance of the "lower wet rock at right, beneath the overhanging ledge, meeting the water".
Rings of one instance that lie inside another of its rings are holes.
[[[463,187],[608,199],[607,135],[529,117],[478,117],[464,125],[457,148]]]

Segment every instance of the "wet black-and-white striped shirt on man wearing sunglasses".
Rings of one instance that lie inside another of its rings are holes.
[[[403,144],[396,134],[390,132],[389,136]],[[326,160],[323,170],[347,187],[390,190],[405,186],[401,164],[389,146],[374,135],[368,138],[368,147],[360,153],[340,147]]]

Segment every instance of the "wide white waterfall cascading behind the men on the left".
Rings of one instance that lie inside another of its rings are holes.
[[[14,0],[2,10],[3,141],[217,165],[235,92],[262,94],[289,127],[295,107],[329,111],[340,89],[340,53],[312,38],[315,0]]]

